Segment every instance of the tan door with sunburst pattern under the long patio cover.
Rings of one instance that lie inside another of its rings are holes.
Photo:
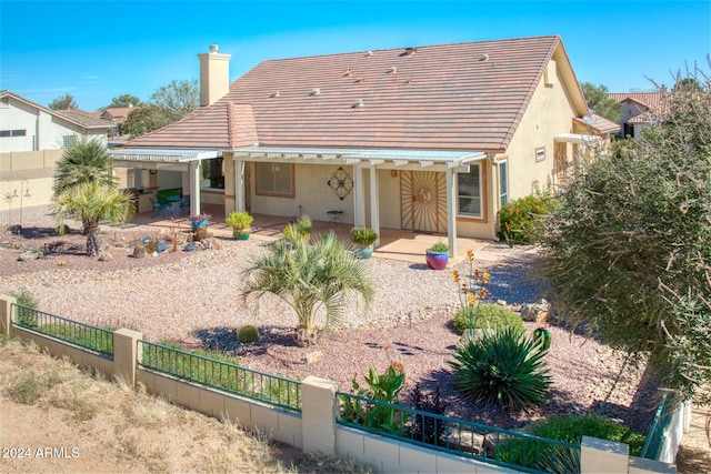
[[[402,229],[417,232],[447,232],[447,183],[444,173],[402,171],[400,173]]]

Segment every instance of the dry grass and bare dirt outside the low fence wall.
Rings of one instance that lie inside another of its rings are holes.
[[[14,340],[0,341],[0,445],[78,450],[63,458],[3,460],[11,472],[372,472],[304,456],[263,433],[132,391]]]

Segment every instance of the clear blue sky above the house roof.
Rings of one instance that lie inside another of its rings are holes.
[[[0,90],[83,110],[198,79],[197,54],[232,54],[230,80],[269,59],[559,34],[580,82],[650,90],[708,72],[711,0],[6,1]]]

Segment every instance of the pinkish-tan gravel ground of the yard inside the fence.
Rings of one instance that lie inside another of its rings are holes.
[[[22,234],[0,238],[0,293],[28,290],[46,312],[94,325],[138,329],[153,341],[173,339],[233,351],[251,367],[294,377],[327,377],[342,391],[350,390],[356,374],[362,382],[370,364],[383,369],[389,360],[398,360],[408,374],[405,397],[417,383],[440,387],[450,415],[502,427],[520,427],[553,413],[589,412],[645,432],[653,416],[657,377],[643,366],[630,365],[623,354],[555,325],[547,356],[554,383],[547,403],[529,413],[509,413],[459,399],[447,364],[459,341],[449,325],[459,304],[449,271],[368,260],[377,289],[374,303],[370,307],[351,304],[346,327],[314,347],[298,347],[291,339],[296,317],[286,304],[271,296],[259,305],[239,297],[241,270],[266,251],[264,242],[220,238],[219,250],[134,259],[130,244],[154,231],[106,228],[104,244],[112,258],[101,262],[82,254],[80,233],[57,236],[48,219],[26,210]],[[17,260],[22,249],[44,244],[54,244],[58,252],[30,262]],[[477,252],[474,265],[492,275],[489,297],[513,307],[537,301],[541,282],[530,276],[537,255],[533,248],[509,249],[500,243]],[[457,270],[467,273],[468,263],[458,264]],[[243,324],[259,326],[262,340],[240,345],[233,332]],[[527,323],[527,327],[532,331],[535,325]],[[316,362],[307,362],[310,359]]]

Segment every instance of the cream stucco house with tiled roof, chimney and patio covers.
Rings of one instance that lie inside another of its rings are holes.
[[[206,198],[226,212],[340,210],[447,234],[455,253],[457,236],[495,239],[502,204],[557,189],[560,163],[617,131],[588,117],[554,36],[271,60],[232,84],[229,54],[199,58],[202,107],[111,151],[157,170],[137,185],[183,188],[193,213]]]

